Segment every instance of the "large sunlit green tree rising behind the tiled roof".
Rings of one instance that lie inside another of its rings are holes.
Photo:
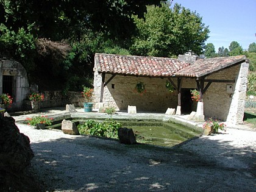
[[[171,57],[188,51],[202,52],[209,33],[202,18],[179,4],[169,7],[169,3],[148,6],[144,20],[133,16],[138,34],[133,36],[132,54]]]

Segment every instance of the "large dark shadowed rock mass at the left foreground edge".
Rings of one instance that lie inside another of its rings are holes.
[[[0,116],[0,171],[23,171],[33,157],[29,137],[20,133],[15,119]]]

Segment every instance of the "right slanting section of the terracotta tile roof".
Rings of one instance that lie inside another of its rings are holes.
[[[215,57],[210,59],[199,59],[190,66],[177,71],[176,76],[202,77],[207,74],[219,71],[236,63],[245,62],[244,55],[233,57]]]

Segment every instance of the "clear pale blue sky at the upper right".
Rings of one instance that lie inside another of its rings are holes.
[[[202,17],[210,29],[205,44],[213,43],[216,52],[222,46],[229,49],[232,41],[243,49],[256,43],[256,0],[173,0],[172,5],[175,3]]]

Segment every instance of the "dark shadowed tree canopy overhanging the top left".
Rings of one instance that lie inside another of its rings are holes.
[[[35,24],[38,37],[62,40],[79,35],[84,29],[110,33],[115,37],[130,36],[135,29],[132,15],[143,17],[146,5],[160,5],[160,0],[1,0],[0,20],[18,30]],[[78,36],[78,37],[77,37]]]

